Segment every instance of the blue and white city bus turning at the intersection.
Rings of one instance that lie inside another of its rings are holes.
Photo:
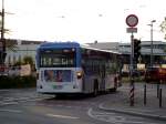
[[[45,94],[93,94],[116,90],[118,52],[77,42],[45,42],[37,50],[37,91]]]

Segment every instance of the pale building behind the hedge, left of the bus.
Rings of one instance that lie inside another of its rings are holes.
[[[31,56],[34,61],[35,50],[41,43],[41,41],[8,39],[6,64],[14,65],[17,62],[22,62],[24,56]]]

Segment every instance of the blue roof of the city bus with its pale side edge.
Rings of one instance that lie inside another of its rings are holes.
[[[90,44],[81,44],[79,42],[45,42],[39,46],[40,50],[42,50],[42,49],[58,49],[58,48],[84,48],[84,49],[90,49],[90,50],[96,50],[96,51],[121,54],[120,52],[115,52],[115,51],[111,51],[111,50],[96,49],[96,48],[92,48]]]

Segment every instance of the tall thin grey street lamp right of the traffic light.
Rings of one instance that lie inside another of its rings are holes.
[[[156,22],[156,20],[152,20],[151,24],[148,24],[151,27],[151,66],[153,66],[153,23]]]

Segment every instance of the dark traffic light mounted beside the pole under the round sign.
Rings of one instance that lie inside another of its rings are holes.
[[[134,39],[134,61],[138,63],[141,56],[141,40]]]

